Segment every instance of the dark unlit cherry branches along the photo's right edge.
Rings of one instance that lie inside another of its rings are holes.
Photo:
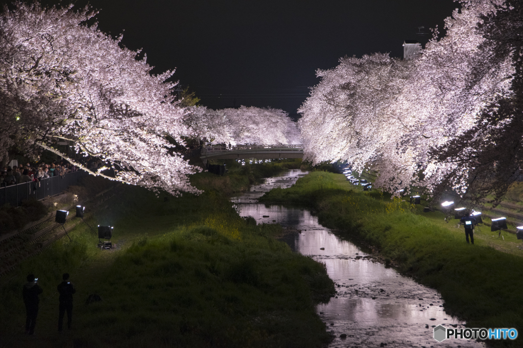
[[[486,40],[481,49],[492,52],[491,59],[513,59],[511,94],[488,104],[462,135],[430,151],[434,160],[452,163],[454,170],[442,181],[466,182],[470,200],[487,194],[501,200],[508,186],[521,177],[523,167],[523,4],[510,0],[495,8],[482,16],[479,31]]]

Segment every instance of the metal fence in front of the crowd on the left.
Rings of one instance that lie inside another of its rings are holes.
[[[84,171],[67,173],[63,176],[53,176],[40,182],[30,182],[0,188],[0,206],[9,203],[12,207],[22,205],[22,200],[34,198],[37,200],[54,196],[65,191],[69,186],[76,185],[78,179],[87,174]]]

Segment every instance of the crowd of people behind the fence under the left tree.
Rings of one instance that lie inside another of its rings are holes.
[[[35,164],[19,164],[17,166],[5,166],[0,173],[0,187],[22,184],[28,182],[39,182],[52,176],[65,175],[76,172],[77,166],[67,161]]]

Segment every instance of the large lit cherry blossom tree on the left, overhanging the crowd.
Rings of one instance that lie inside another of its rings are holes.
[[[183,144],[186,111],[174,101],[173,71],[152,75],[140,52],[120,47],[93,21],[96,12],[4,7],[0,16],[0,157],[36,157],[39,148],[68,141],[78,153],[109,163],[116,179],[150,189],[197,193],[187,175],[198,171],[173,152]],[[66,158],[66,157],[65,157]],[[94,175],[82,163],[66,158]]]

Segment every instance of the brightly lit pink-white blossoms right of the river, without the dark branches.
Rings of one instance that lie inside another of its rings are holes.
[[[372,165],[380,174],[376,184],[389,191],[415,185],[438,193],[450,186],[464,194],[474,165],[436,154],[483,128],[484,111],[510,98],[515,55],[495,54],[480,30],[507,8],[503,1],[462,6],[446,19],[447,35],[435,35],[416,59],[374,54],[318,71],[322,81],[300,109],[308,158],[347,160],[358,170]]]

